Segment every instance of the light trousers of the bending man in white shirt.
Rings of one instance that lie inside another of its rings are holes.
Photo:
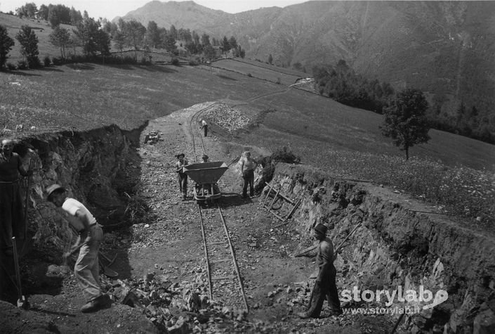
[[[98,263],[98,250],[103,239],[101,226],[95,224],[90,229],[91,238],[84,243],[79,250],[74,276],[79,288],[81,288],[86,302],[90,302],[102,295],[100,288],[100,264]],[[81,238],[86,238],[84,233]]]

